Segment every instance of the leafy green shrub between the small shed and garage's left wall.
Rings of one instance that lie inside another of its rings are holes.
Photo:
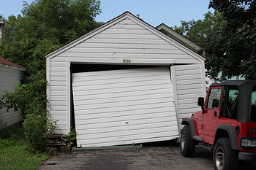
[[[46,80],[35,80],[29,84],[17,82],[15,92],[5,91],[1,96],[0,109],[6,108],[23,111],[23,128],[30,147],[34,151],[42,151],[45,148],[46,138],[44,135],[49,131],[52,133],[56,128],[56,122],[47,118],[45,89]]]

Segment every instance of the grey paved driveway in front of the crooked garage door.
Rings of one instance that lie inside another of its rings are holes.
[[[48,165],[49,162],[56,164]],[[179,147],[146,146],[139,149],[83,150],[61,153],[41,163],[37,169],[189,169],[213,170],[212,152],[196,147],[192,158],[184,158]],[[239,169],[255,169],[241,162]]]

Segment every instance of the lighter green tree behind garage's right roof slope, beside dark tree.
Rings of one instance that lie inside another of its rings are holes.
[[[173,29],[179,34],[183,34],[188,39],[201,47],[206,47],[213,39],[220,36],[222,27],[225,25],[220,12],[210,11],[204,14],[203,20],[181,20],[181,27],[175,26]]]

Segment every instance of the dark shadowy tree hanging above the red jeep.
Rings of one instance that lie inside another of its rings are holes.
[[[255,0],[212,0],[209,7],[222,12],[227,24],[206,48],[208,75],[222,72],[222,80],[237,75],[256,80]]]

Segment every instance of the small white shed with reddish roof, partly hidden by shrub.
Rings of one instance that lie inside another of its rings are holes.
[[[26,68],[18,64],[7,61],[0,57],[0,96],[4,95],[4,91],[14,92],[14,84],[18,81],[24,80],[26,76]],[[0,128],[18,123],[22,120],[22,112],[14,112],[14,109],[0,109]]]

